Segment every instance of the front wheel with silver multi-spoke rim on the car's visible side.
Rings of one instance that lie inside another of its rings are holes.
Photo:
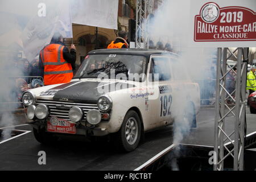
[[[119,150],[130,152],[137,148],[140,139],[141,119],[134,110],[130,110],[125,115],[121,128],[115,134],[115,144]]]

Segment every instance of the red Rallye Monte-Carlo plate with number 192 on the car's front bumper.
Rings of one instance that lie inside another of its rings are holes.
[[[71,123],[65,119],[51,117],[49,121],[47,121],[47,131],[55,133],[76,134],[76,124]]]

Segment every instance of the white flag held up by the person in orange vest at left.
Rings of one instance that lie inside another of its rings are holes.
[[[45,3],[44,3],[45,2]],[[71,14],[69,1],[40,1],[46,5],[46,14],[34,15],[22,32],[23,52],[32,61],[41,49],[50,43],[55,32],[64,38],[72,38]],[[43,6],[42,6],[43,8]]]

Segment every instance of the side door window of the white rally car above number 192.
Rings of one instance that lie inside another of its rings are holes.
[[[153,81],[168,81],[171,80],[170,59],[168,57],[152,57],[150,66],[149,80]]]

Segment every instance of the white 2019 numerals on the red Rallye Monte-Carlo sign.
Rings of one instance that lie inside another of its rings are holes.
[[[221,14],[221,23],[240,23],[243,21],[243,12],[242,11],[234,11],[234,12],[222,12]]]

